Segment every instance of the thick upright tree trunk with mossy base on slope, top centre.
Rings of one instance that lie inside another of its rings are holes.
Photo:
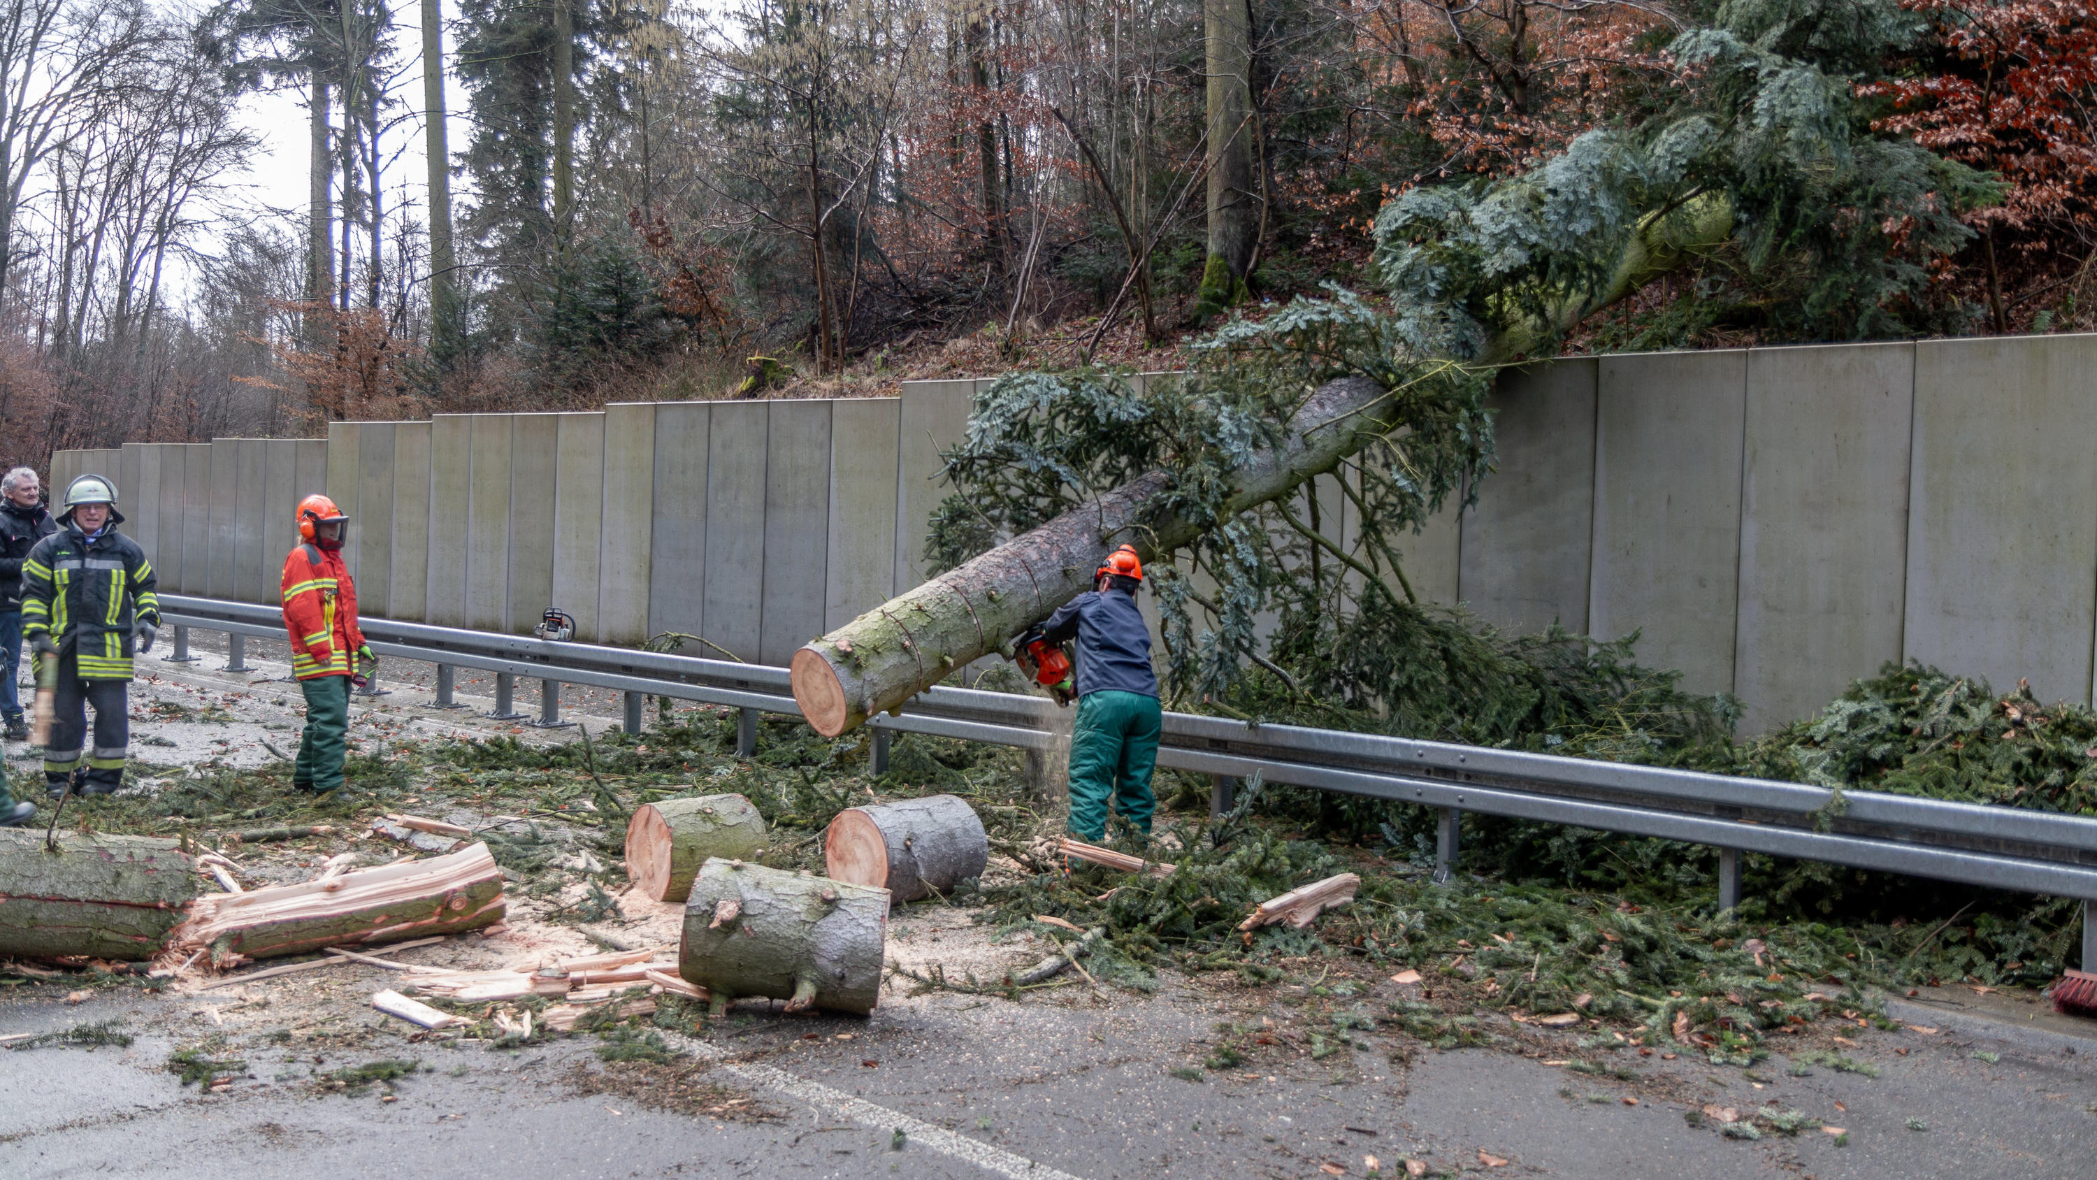
[[[1260,243],[1260,191],[1252,174],[1252,13],[1246,0],[1204,0],[1208,69],[1208,262],[1199,310],[1214,314],[1246,291]]]

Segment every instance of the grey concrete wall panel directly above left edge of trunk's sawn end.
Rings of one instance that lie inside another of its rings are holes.
[[[772,402],[765,461],[765,616],[759,660],[784,667],[822,635],[830,547],[828,400]]]

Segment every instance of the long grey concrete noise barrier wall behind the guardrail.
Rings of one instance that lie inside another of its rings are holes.
[[[2093,381],[2093,335],[1512,369],[1476,507],[1399,547],[1422,597],[1493,625],[1638,631],[1644,662],[1741,696],[1749,731],[1908,658],[2089,700]],[[782,664],[925,578],[939,451],[988,384],[61,451],[50,486],[115,478],[185,593],[275,602],[291,507],[327,490],[369,614],[524,633],[552,606],[585,639]],[[1353,549],[1329,484],[1319,528]]]

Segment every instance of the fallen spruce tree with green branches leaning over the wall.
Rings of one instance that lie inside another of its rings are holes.
[[[927,549],[946,572],[795,652],[809,725],[837,736],[900,711],[1088,589],[1122,543],[1158,570],[1176,698],[1220,700],[1248,667],[1319,696],[1258,652],[1254,618],[1283,616],[1279,650],[1292,612],[1315,625],[1411,604],[1399,541],[1491,472],[1499,367],[1550,356],[1682,270],[1791,283],[1818,337],[1881,327],[1931,256],[1971,239],[1959,214],[1996,189],[1873,132],[1841,82],[1910,36],[1898,10],[1787,13],[1726,6],[1682,34],[1680,101],[1644,126],[1587,132],[1522,176],[1388,201],[1371,266],[1382,306],[1334,289],[1233,321],[1195,373],[1143,394],[1097,371],[979,394]],[[1315,495],[1309,520],[1290,505],[1327,472],[1355,513],[1350,547],[1321,528]],[[1384,683],[1353,685],[1350,704],[1403,690],[1380,658],[1374,641],[1357,658]]]

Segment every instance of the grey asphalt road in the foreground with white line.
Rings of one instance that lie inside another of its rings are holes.
[[[1294,1019],[1288,1002],[1262,1010],[1283,1027]],[[1877,1077],[1791,1077],[1774,1058],[1757,1067],[1764,1088],[1690,1061],[1619,1054],[1613,1065],[1636,1075],[1625,1081],[1380,1037],[1321,1063],[1254,1056],[1187,1081],[1172,1071],[1208,1052],[1212,998],[1168,989],[1065,1008],[933,996],[868,1021],[738,1014],[682,1042],[713,1063],[709,1081],[776,1113],[757,1123],[585,1094],[575,1071],[600,1069],[587,1035],[528,1050],[409,1044],[413,1029],[359,1014],[375,1031],[354,1054],[312,1065],[304,1046],[254,1037],[220,1050],[245,1056],[252,1075],[199,1094],[166,1071],[174,1048],[212,1033],[197,996],[103,991],[67,1006],[38,989],[0,1002],[0,1035],[101,1019],[143,1035],[128,1048],[0,1052],[0,1176],[1313,1178],[1327,1163],[1365,1176],[1376,1155],[1386,1176],[1413,1157],[1501,1176],[2057,1178],[2089,1174],[2097,1149],[2097,1040],[1971,1017],[1936,1035],[1858,1033],[1852,1052]],[[1411,1061],[1395,1065],[1392,1048]],[[386,1056],[428,1067],[394,1084],[392,1102],[312,1081]],[[1684,1117],[1707,1102],[1799,1109],[1847,1128],[1850,1142],[1818,1130],[1724,1138]]]

